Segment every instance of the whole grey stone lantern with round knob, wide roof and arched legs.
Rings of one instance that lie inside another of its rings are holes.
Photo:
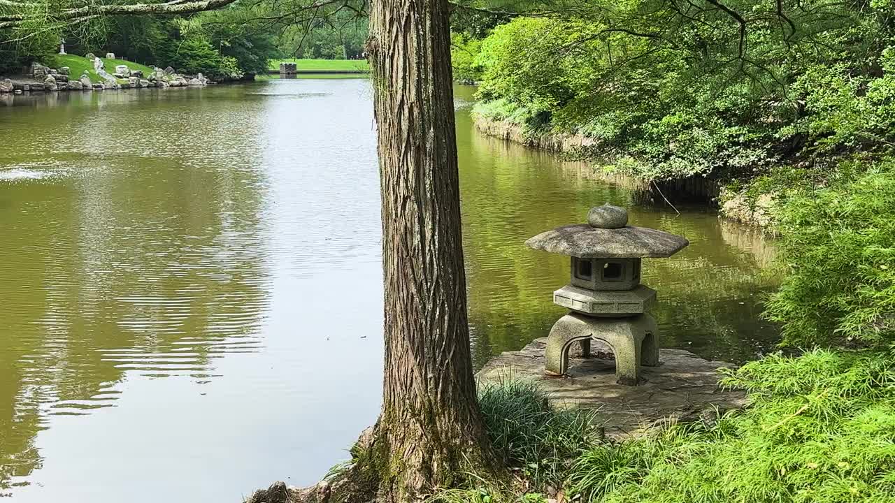
[[[627,211],[597,206],[587,224],[562,226],[525,242],[544,252],[571,257],[569,284],[553,292],[553,303],[569,309],[547,337],[546,373],[564,375],[575,343],[591,353],[591,339],[605,342],[615,355],[620,384],[636,385],[640,367],[659,363],[656,320],[647,311],[656,292],[640,284],[641,259],[670,257],[689,242],[675,234],[627,225]]]

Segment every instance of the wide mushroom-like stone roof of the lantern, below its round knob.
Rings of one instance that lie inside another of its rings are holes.
[[[525,245],[582,259],[636,259],[670,257],[689,243],[677,234],[648,227],[600,229],[577,224],[538,234],[529,238]]]

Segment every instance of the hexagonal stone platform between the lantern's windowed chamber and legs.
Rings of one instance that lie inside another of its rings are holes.
[[[593,316],[624,316],[649,311],[656,303],[656,291],[644,285],[616,292],[594,292],[567,285],[553,292],[553,303]]]

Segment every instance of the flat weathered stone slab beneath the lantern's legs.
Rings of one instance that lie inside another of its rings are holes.
[[[669,418],[696,421],[710,416],[713,407],[724,411],[746,405],[744,392],[718,388],[717,369],[735,366],[727,362],[703,360],[681,349],[662,349],[659,366],[642,368],[645,382],[624,386],[616,383],[609,347],[599,341],[592,341],[595,357],[582,358],[572,350],[568,377],[544,374],[546,346],[547,339],[540,338],[520,351],[500,354],[478,372],[480,386],[505,379],[534,380],[550,394],[553,405],[596,410],[606,436],[613,439],[643,433]]]

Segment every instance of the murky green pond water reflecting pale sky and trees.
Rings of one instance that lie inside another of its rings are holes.
[[[644,261],[663,346],[772,345],[760,234],[483,137],[472,95],[456,89],[477,365],[563,312],[567,259],[524,240],[606,201],[691,242]],[[344,459],[380,399],[373,128],[362,79],[0,95],[0,495],[235,501]]]

